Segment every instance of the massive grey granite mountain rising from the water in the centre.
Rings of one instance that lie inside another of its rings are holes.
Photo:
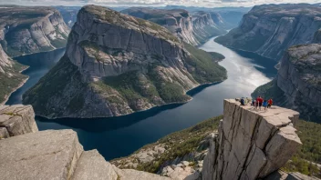
[[[186,91],[223,81],[212,55],[182,44],[161,25],[96,5],[78,13],[66,55],[24,95],[37,115],[127,115],[185,102]]]

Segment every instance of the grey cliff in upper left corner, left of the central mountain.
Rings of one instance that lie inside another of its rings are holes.
[[[52,7],[0,6],[0,44],[9,56],[64,47],[69,28]]]

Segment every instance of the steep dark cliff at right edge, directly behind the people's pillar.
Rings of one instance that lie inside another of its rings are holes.
[[[321,117],[321,45],[295,45],[281,59],[276,78],[254,95],[274,97],[276,105],[300,112],[306,120]]]

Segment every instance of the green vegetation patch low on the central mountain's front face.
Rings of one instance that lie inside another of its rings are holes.
[[[131,71],[117,76],[108,76],[97,85],[107,92],[111,89],[117,90],[133,110],[140,110],[140,107],[137,106],[137,102],[140,100],[161,105],[163,103],[158,99],[162,99],[165,103],[185,102],[190,99],[188,95],[184,94],[181,85],[163,80],[156,68],[157,66],[150,68],[147,75],[139,71]],[[118,97],[111,100],[115,103],[121,101]]]

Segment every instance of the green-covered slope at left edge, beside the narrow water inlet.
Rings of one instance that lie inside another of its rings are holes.
[[[26,68],[25,65],[21,65],[16,61],[13,61],[12,67],[3,66],[5,74],[0,72],[0,103],[3,103],[7,96],[12,93],[27,76],[22,75],[19,72]],[[12,75],[12,76],[9,76]]]

